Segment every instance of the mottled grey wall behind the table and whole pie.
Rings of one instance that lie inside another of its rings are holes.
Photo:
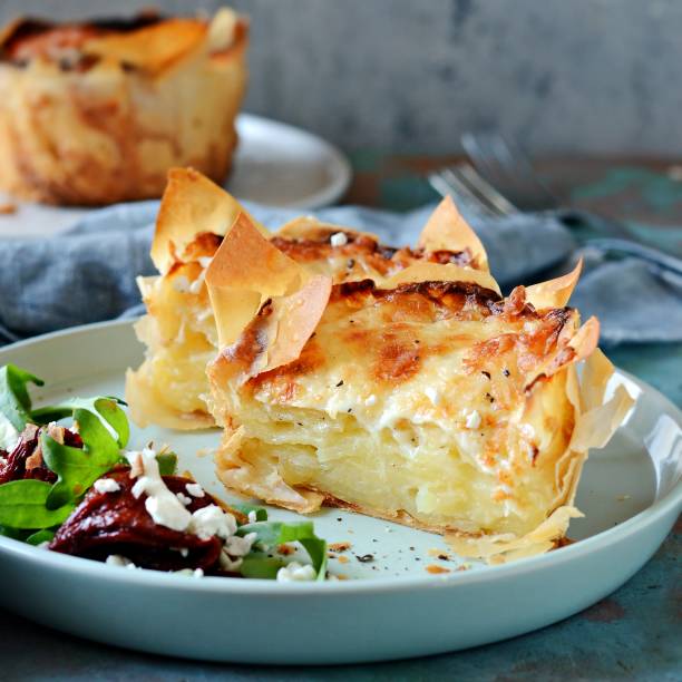
[[[0,0],[0,19],[148,0]],[[157,0],[169,12],[223,2]],[[232,0],[246,108],[345,149],[452,153],[498,126],[537,153],[682,154],[680,0]]]

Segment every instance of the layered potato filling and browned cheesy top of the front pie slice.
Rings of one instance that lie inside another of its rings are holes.
[[[575,311],[536,312],[523,289],[340,284],[298,360],[251,376],[267,324],[265,306],[211,371],[227,486],[439,530],[523,534],[552,510]]]

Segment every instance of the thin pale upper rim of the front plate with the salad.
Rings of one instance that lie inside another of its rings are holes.
[[[118,328],[133,325],[137,319],[109,320],[105,322],[96,322],[94,324],[82,324],[65,330],[49,332],[32,337],[16,343],[0,348],[0,357],[11,353],[13,350],[23,349],[30,345],[50,341],[60,337],[87,334],[90,331],[107,328]],[[653,393],[659,400],[662,400],[668,410],[672,412],[679,423],[682,423],[682,411],[679,410],[660,391],[649,386],[646,382],[636,379],[629,372],[617,370],[620,374],[633,381],[643,391]],[[381,577],[367,578],[357,581],[339,581],[339,582],[315,582],[315,583],[286,583],[282,585],[274,581],[257,581],[243,578],[228,578],[218,576],[206,576],[201,579],[188,579],[187,576],[174,575],[159,571],[138,569],[128,571],[126,568],[107,566],[91,559],[86,559],[77,556],[61,555],[56,552],[48,552],[39,547],[33,547],[19,540],[0,536],[0,551],[9,551],[12,554],[21,556],[23,559],[40,563],[46,568],[68,569],[74,573],[91,574],[91,577],[100,578],[103,582],[107,578],[124,578],[124,582],[135,583],[137,585],[153,585],[158,588],[173,587],[174,590],[183,590],[185,592],[215,592],[220,594],[251,594],[251,595],[270,595],[276,593],[279,595],[295,595],[301,594],[330,594],[330,593],[386,593],[400,592],[419,588],[444,588],[454,587],[455,585],[470,585],[474,583],[488,582],[491,579],[501,579],[514,577],[529,572],[539,569],[551,569],[552,567],[571,561],[577,561],[581,556],[591,554],[596,551],[603,551],[614,543],[626,539],[629,535],[643,530],[646,526],[654,524],[661,516],[668,514],[674,506],[682,504],[682,479],[668,490],[665,495],[655,499],[649,507],[639,512],[627,520],[618,524],[613,528],[602,530],[588,538],[582,539],[573,545],[562,547],[561,552],[551,552],[547,554],[522,558],[509,564],[497,566],[486,566],[480,571],[457,572],[439,576],[407,576],[407,577]],[[92,573],[95,572],[95,573]]]

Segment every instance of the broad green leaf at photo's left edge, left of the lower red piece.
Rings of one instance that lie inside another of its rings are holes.
[[[74,505],[46,506],[51,486],[27,478],[0,486],[0,525],[9,528],[50,528],[62,524]]]

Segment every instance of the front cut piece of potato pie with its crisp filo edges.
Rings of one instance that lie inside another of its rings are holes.
[[[439,230],[460,220],[446,203]],[[565,536],[588,448],[605,445],[632,405],[622,386],[605,400],[613,369],[598,322],[581,324],[566,308],[579,265],[507,298],[487,273],[484,282],[455,264],[334,282],[284,252],[267,269],[273,244],[240,223],[206,276],[227,488],[441,533],[459,554],[489,561]],[[235,263],[231,289],[222,273]]]

